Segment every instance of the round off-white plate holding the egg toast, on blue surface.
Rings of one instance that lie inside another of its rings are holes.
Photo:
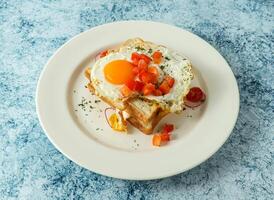
[[[129,134],[111,130],[103,112],[84,85],[85,67],[103,49],[129,38],[165,45],[187,56],[196,69],[194,85],[207,93],[199,109],[169,115],[173,140],[151,145],[152,136],[130,128]],[[95,108],[84,111],[84,97]],[[91,102],[91,103],[90,103]],[[212,156],[226,141],[237,119],[239,92],[224,58],[207,42],[180,28],[149,21],[124,21],[92,28],[64,44],[46,64],[37,87],[37,112],[50,141],[77,164],[106,176],[147,180],[175,175]],[[77,110],[77,111],[75,111]]]

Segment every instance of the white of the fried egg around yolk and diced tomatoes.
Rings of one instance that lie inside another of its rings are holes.
[[[170,112],[179,112],[182,110],[183,97],[188,93],[191,80],[193,79],[191,63],[176,51],[163,46],[157,46],[150,52],[153,53],[157,50],[162,52],[163,59],[159,65],[152,65],[157,67],[160,74],[159,79],[162,80],[165,75],[170,75],[175,79],[175,83],[170,92],[164,96],[149,95],[144,96],[143,98],[154,100],[161,106],[169,109]],[[136,50],[134,47],[128,47],[123,48],[119,52],[111,52],[107,56],[100,58],[95,62],[91,68],[90,78],[97,95],[105,96],[115,102],[122,101],[122,95],[120,93],[122,85],[115,85],[108,82],[104,76],[104,67],[106,64],[114,60],[131,61],[131,54],[136,51],[138,53],[149,55],[147,49]]]

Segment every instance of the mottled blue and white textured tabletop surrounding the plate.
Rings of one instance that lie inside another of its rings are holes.
[[[271,0],[0,0],[0,199],[273,198],[273,13]],[[127,19],[194,32],[237,78],[241,108],[231,137],[186,173],[143,182],[97,175],[59,153],[39,125],[35,89],[49,57],[82,31]]]

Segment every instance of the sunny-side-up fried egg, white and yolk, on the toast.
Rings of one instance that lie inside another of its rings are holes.
[[[158,69],[159,80],[162,80],[165,75],[170,75],[175,79],[175,83],[166,95],[148,95],[144,98],[154,100],[160,105],[168,107],[170,112],[181,111],[183,97],[188,93],[193,79],[191,63],[184,56],[164,46],[157,46],[150,50],[127,47],[120,49],[118,52],[110,52],[105,57],[98,59],[92,66],[90,75],[97,93],[115,102],[122,102],[123,96],[120,89],[126,81],[134,77],[131,54],[138,52],[151,57],[152,52],[155,51],[160,51],[163,56],[160,64],[151,64]]]

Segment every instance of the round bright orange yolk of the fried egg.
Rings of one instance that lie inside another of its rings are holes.
[[[114,60],[106,64],[104,74],[112,84],[124,84],[134,78],[133,65],[126,60]]]

